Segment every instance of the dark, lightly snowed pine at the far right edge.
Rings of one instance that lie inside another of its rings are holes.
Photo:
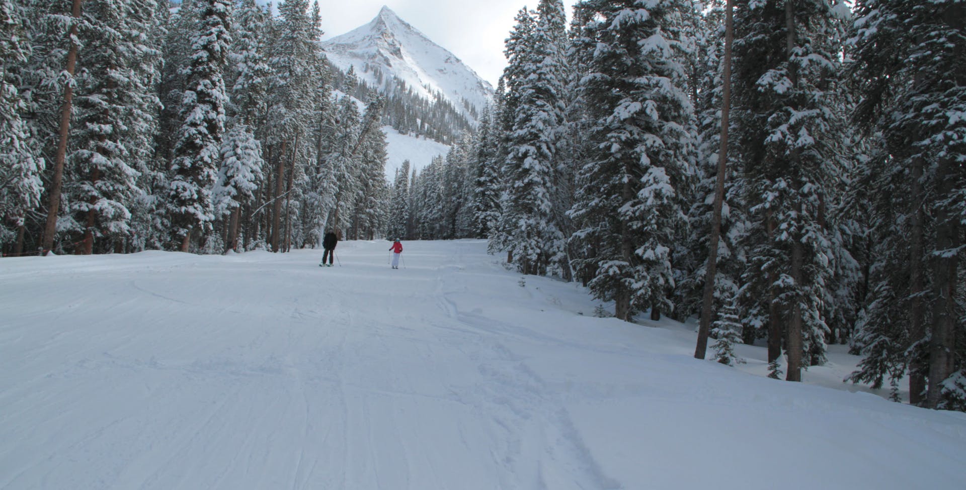
[[[964,255],[966,118],[950,117],[966,113],[966,68],[961,62],[966,5],[952,0],[860,0],[855,8],[851,42],[864,95],[857,120],[883,136],[883,157],[870,163],[887,165],[891,170],[886,176],[898,178],[882,182],[910,199],[896,210],[898,216],[905,215],[908,228],[893,229],[908,239],[908,258],[877,262],[904,272],[877,278],[860,331],[865,337],[860,346],[877,363],[868,363],[853,376],[893,375],[888,369],[894,368],[896,356],[875,354],[873,347],[905,347],[910,401],[940,407],[955,392],[950,391],[955,384],[947,381],[957,379],[966,358],[956,340],[963,335],[963,322],[954,292],[961,288],[958,270]],[[881,305],[890,295],[908,298],[907,311],[898,319],[879,313],[885,313]],[[890,328],[885,321],[908,326]],[[924,342],[929,343],[927,358],[919,348]]]

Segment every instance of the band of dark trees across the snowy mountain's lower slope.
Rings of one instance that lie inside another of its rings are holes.
[[[392,126],[402,134],[452,145],[462,133],[471,132],[473,122],[479,118],[476,107],[466,99],[463,99],[463,111],[460,111],[439,91],[423,87],[433,94],[432,100],[427,99],[399,77],[387,76],[382,68],[375,65],[367,63],[361,68],[363,73],[372,72],[376,80],[373,86],[358,77],[355,67],[344,71],[329,64],[328,68],[332,73],[332,85],[339,91],[359,100],[369,100],[375,95],[384,96],[383,124]]]

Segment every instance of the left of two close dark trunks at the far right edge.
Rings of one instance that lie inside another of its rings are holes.
[[[912,167],[910,194],[912,197],[911,230],[909,237],[909,333],[912,343],[925,338],[925,304],[923,294],[923,158],[916,158]],[[922,405],[925,401],[925,372],[919,356],[913,355],[909,363],[909,403]]]

